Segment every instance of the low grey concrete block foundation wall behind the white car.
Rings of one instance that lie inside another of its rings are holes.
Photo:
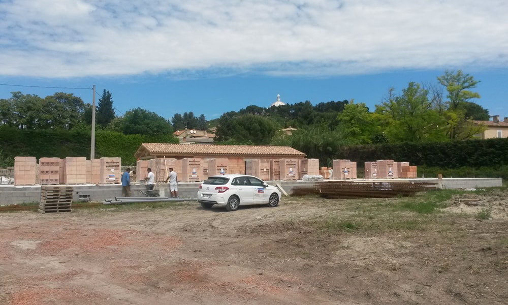
[[[379,181],[376,179],[375,181]],[[406,180],[406,179],[404,179]],[[413,179],[407,179],[413,180]],[[501,178],[425,178],[414,179],[415,181],[435,181],[441,182],[443,189],[467,189],[467,188],[488,188],[502,186]],[[366,181],[358,179],[358,181]],[[391,181],[393,181],[391,179]],[[269,185],[279,184],[285,192],[291,193],[291,190],[298,186],[311,186],[313,181],[266,181]],[[179,182],[178,195],[180,198],[196,198],[201,182]],[[169,184],[158,184],[155,189],[161,190],[161,196],[169,197]],[[143,196],[137,190],[145,190],[145,185],[131,186],[132,196]],[[73,201],[78,201],[81,196],[88,195],[90,201],[102,202],[106,199],[112,199],[115,196],[122,196],[121,185],[79,185],[73,186]],[[41,187],[40,186],[25,186],[16,187],[12,185],[0,186],[0,205],[11,205],[20,203],[40,202],[41,200]]]

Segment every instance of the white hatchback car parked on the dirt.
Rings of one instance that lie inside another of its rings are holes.
[[[198,190],[198,202],[203,208],[214,204],[225,206],[228,211],[240,205],[267,204],[277,206],[280,201],[278,188],[249,175],[227,174],[210,176]]]

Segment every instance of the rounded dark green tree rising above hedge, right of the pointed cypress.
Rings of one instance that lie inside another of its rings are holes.
[[[122,132],[126,135],[166,135],[173,133],[173,127],[164,117],[139,107],[127,111],[121,125]]]

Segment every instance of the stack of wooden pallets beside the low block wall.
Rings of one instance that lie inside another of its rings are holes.
[[[70,212],[72,203],[72,187],[41,186],[41,213]]]

